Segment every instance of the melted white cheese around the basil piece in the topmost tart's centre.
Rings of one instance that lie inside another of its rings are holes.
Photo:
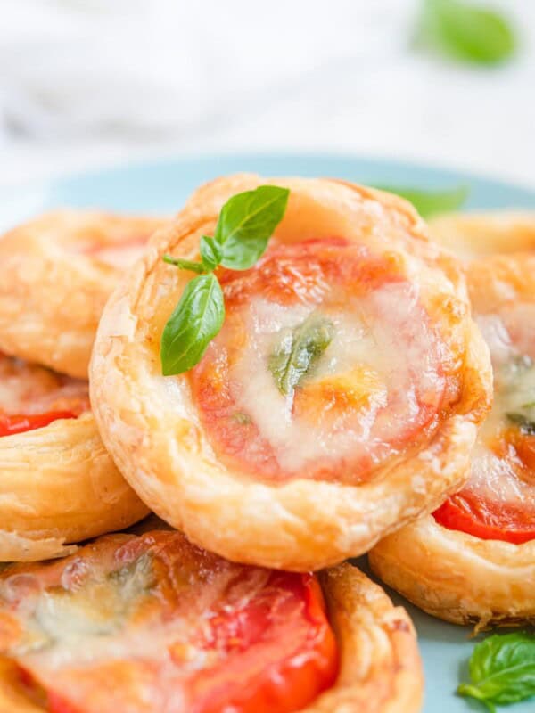
[[[282,307],[259,298],[247,306],[246,344],[231,365],[232,395],[285,471],[344,455],[381,458],[389,450],[385,443],[416,427],[422,399],[432,406],[440,401],[440,354],[415,289],[406,283],[386,284],[366,297],[345,301],[347,310],[317,310],[333,323],[333,339],[303,382],[321,384],[344,376],[349,383],[356,370],[374,377],[368,380],[368,397],[358,406],[348,405],[333,419],[326,403],[325,418],[320,414],[314,422],[306,414],[296,417],[293,394],[284,396],[268,369],[280,332],[302,324],[312,307]]]

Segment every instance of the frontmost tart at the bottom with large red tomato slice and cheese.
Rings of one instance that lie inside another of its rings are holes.
[[[350,564],[233,564],[176,531],[101,537],[0,573],[10,713],[410,713],[407,613]]]

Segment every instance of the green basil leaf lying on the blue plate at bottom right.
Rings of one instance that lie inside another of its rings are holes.
[[[471,684],[457,693],[495,705],[523,701],[535,695],[535,635],[526,632],[495,634],[477,643],[470,659]]]

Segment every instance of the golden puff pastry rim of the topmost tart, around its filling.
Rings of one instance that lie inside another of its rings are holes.
[[[488,408],[490,363],[469,316],[457,262],[427,241],[424,223],[406,201],[326,179],[273,182],[292,190],[277,240],[343,235],[384,250],[387,234],[407,270],[424,270],[426,307],[465,365],[457,411],[429,445],[358,486],[306,479],[270,486],[217,462],[187,378],[161,376],[161,330],[191,276],[169,270],[161,256],[196,258],[199,237],[212,234],[223,203],[259,185],[259,176],[231,176],[202,187],[176,221],[154,235],[103,314],[91,396],[119,470],[161,518],[230,560],[317,570],[366,552],[462,485],[476,423]]]

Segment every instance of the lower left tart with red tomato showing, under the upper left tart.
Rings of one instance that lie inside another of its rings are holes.
[[[0,354],[0,561],[69,553],[146,512],[104,450],[87,382]]]

